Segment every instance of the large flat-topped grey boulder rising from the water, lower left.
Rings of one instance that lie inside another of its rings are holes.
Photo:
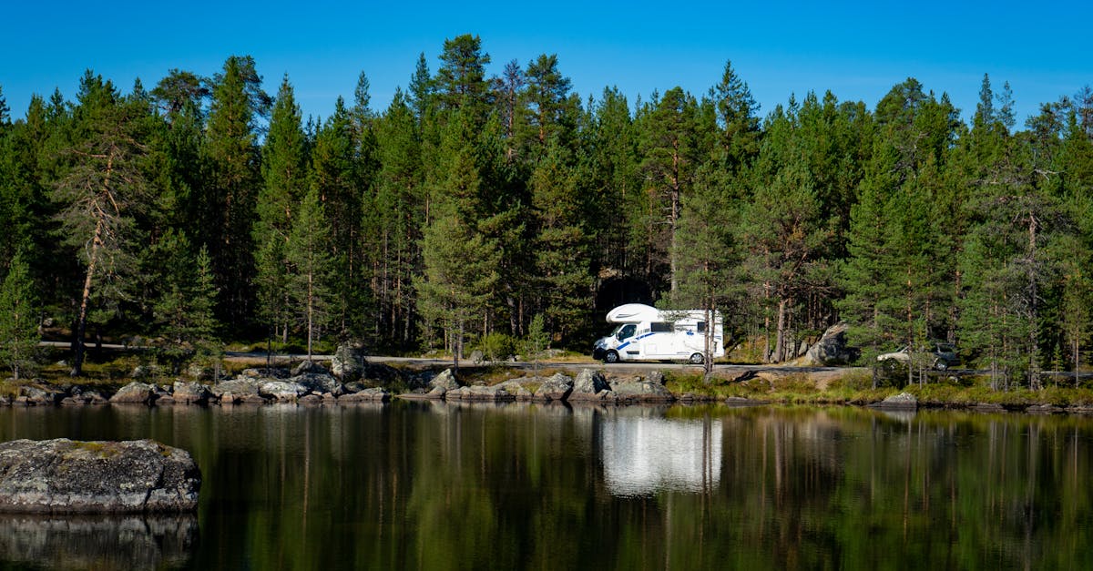
[[[188,512],[200,488],[188,452],[151,440],[0,444],[0,511]]]

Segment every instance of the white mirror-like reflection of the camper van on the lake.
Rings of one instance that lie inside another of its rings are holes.
[[[709,491],[721,477],[721,421],[618,416],[600,426],[603,476],[615,496]]]

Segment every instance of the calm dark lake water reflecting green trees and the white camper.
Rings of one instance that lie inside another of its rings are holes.
[[[1093,569],[1093,418],[396,401],[2,408],[151,438],[186,517],[0,515],[0,568]]]

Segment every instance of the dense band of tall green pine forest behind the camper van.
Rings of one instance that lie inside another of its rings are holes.
[[[458,36],[383,108],[362,72],[307,118],[248,56],[128,91],[89,70],[21,118],[0,92],[0,364],[19,378],[43,336],[82,340],[73,374],[104,339],[176,370],[228,342],[450,354],[532,329],[587,353],[638,302],[721,312],[741,361],[845,322],[861,363],[941,340],[998,389],[1085,368],[1089,86],[1023,124],[986,74],[974,113],[913,78],[761,113],[731,62],[628,101],[574,93],[553,55],[491,61]]]

